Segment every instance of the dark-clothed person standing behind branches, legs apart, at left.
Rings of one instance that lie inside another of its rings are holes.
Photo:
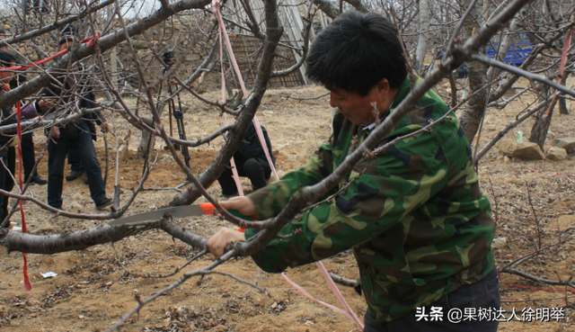
[[[62,39],[59,41],[59,50],[68,48],[74,42],[74,30],[66,27]],[[82,63],[75,63],[70,67],[67,74],[57,77],[58,84],[53,83],[44,88],[41,93],[49,97],[49,103],[40,105],[40,102],[32,104],[33,110],[25,109],[23,112],[36,111],[41,114],[56,112],[58,115],[65,112],[77,112],[75,106],[80,109],[96,107],[89,79],[84,73]],[[64,91],[60,89],[64,87]],[[82,98],[76,98],[81,95]],[[72,110],[70,110],[72,108]],[[62,209],[62,185],[64,180],[64,167],[68,149],[75,148],[78,157],[85,167],[88,175],[88,186],[96,209],[102,210],[111,205],[111,198],[106,197],[106,189],[102,179],[102,168],[93,147],[93,136],[96,134],[94,122],[104,132],[109,130],[108,123],[100,112],[84,114],[80,119],[68,122],[60,127],[54,126],[49,131],[48,145],[48,203],[50,206]]]

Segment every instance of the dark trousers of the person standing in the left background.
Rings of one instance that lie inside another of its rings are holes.
[[[49,139],[48,143],[48,203],[62,209],[62,182],[68,149],[74,148],[88,175],[88,186],[93,202],[98,205],[106,199],[106,189],[102,180],[102,169],[93,148],[92,134],[85,121],[77,123],[78,135],[75,138],[60,137]]]

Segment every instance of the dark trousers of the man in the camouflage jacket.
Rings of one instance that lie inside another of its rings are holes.
[[[413,310],[405,316],[389,322],[372,322],[369,321],[369,310],[367,310],[364,319],[366,324],[364,332],[497,332],[499,322],[493,317],[474,321],[460,319],[453,323],[447,319],[447,312],[452,309],[464,312],[465,308],[473,310],[473,312],[478,312],[479,308],[500,309],[499,282],[497,269],[493,268],[493,271],[479,282],[463,285],[438,301],[429,304],[429,306],[423,307],[422,312],[427,314],[431,312],[431,307],[441,308],[443,321],[430,318],[421,319],[421,312],[418,317],[417,310]],[[505,317],[507,316],[509,314],[506,314]],[[418,321],[418,319],[420,320]]]

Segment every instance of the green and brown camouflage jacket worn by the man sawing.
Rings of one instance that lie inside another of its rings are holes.
[[[391,112],[410,90],[406,79]],[[447,111],[446,103],[429,91],[420,109],[399,121],[380,145]],[[279,213],[300,184],[316,184],[341,165],[354,135],[362,141],[371,132],[341,114],[333,128],[318,157],[249,196],[261,218]],[[280,234],[303,232],[271,241],[252,256],[256,264],[279,273],[353,248],[370,319],[377,321],[398,319],[489,274],[494,223],[490,202],[479,190],[471,148],[454,113],[432,128],[356,166],[345,181],[363,169],[366,174],[284,227]],[[246,238],[256,231],[248,229]]]

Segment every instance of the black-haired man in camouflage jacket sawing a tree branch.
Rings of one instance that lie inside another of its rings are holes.
[[[332,139],[305,167],[222,205],[267,219],[300,185],[317,184],[340,166],[354,136],[361,143],[375,127],[374,108],[384,119],[411,92],[396,35],[382,16],[355,12],[342,14],[318,35],[307,58],[307,75],[330,89],[332,107],[338,107]],[[349,54],[350,49],[359,54]],[[379,146],[447,112],[446,103],[429,91],[420,108],[395,124]],[[256,264],[279,273],[353,248],[368,305],[365,331],[497,330],[493,317],[447,321],[448,310],[500,310],[490,202],[479,190],[471,148],[455,113],[430,131],[398,140],[344,180],[351,184],[339,196],[280,231],[288,235],[301,229],[301,234],[272,240],[252,256]],[[220,229],[208,246],[219,256],[229,242],[256,232],[247,229],[243,236]],[[443,312],[441,320],[437,315],[430,319],[431,307]]]

